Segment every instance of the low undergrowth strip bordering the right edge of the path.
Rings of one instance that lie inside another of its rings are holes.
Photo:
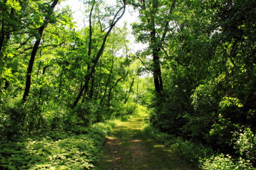
[[[150,137],[173,150],[177,150],[188,162],[195,164],[200,169],[255,169],[249,160],[233,158],[230,155],[214,152],[211,148],[184,140],[170,134],[159,131],[150,125],[145,125],[144,132]]]

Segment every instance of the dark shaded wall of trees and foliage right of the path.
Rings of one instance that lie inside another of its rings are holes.
[[[149,43],[141,57],[147,63],[152,56],[154,80],[163,78],[163,91],[154,81],[150,124],[255,165],[255,1],[131,3],[141,19],[134,33]],[[154,69],[154,53],[161,72]]]

